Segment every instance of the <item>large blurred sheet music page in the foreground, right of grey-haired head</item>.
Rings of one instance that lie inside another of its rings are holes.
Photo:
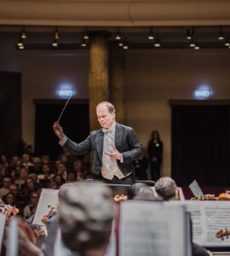
[[[186,256],[185,222],[182,207],[126,201],[121,204],[119,255]]]

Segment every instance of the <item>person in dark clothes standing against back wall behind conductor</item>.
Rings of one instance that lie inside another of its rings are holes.
[[[158,131],[152,131],[151,140],[147,146],[150,175],[153,181],[160,177],[160,167],[162,165],[163,142],[160,140]]]

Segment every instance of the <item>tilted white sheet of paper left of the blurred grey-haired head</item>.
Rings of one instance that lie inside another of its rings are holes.
[[[58,203],[58,189],[43,189],[40,195],[37,210],[34,214],[32,224],[43,225],[41,219],[50,211],[49,206],[55,207]]]

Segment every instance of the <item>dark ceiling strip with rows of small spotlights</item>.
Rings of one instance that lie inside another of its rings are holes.
[[[0,26],[24,50],[87,49],[97,35],[124,49],[228,49],[230,26]]]

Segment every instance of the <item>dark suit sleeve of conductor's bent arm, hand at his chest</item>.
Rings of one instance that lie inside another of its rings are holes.
[[[129,144],[129,148],[130,148],[129,151],[122,153],[124,163],[138,160],[144,154],[142,143],[140,142],[139,138],[137,137],[134,129],[131,129],[129,131],[128,144]]]

